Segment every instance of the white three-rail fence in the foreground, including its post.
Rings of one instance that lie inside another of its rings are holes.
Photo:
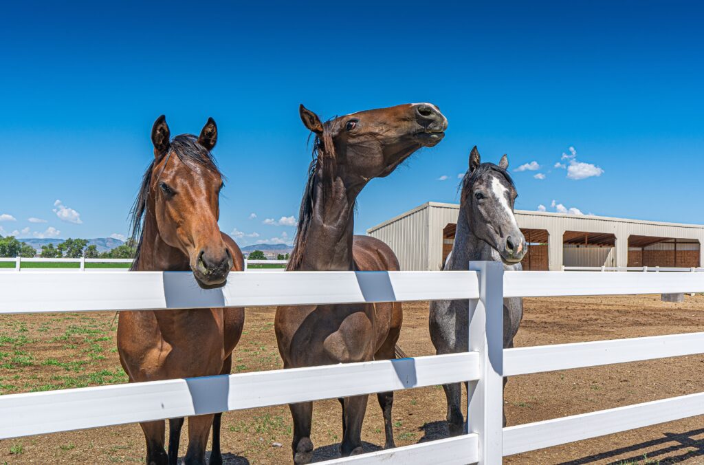
[[[502,428],[502,377],[704,352],[704,333],[502,349],[503,298],[704,292],[703,273],[231,273],[201,290],[191,273],[30,271],[0,277],[0,313],[469,299],[470,351],[0,396],[0,438],[268,407],[468,381],[468,433],[335,459],[345,464],[498,464],[501,457],[704,414],[704,393]],[[439,394],[438,402],[444,403]],[[115,408],[119,406],[119,408]]]

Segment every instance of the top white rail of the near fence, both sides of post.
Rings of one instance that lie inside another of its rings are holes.
[[[503,276],[504,297],[704,292],[700,273],[507,271]],[[26,271],[2,275],[0,314],[477,299],[478,286],[474,271],[230,273],[227,285],[214,290],[201,289],[184,271]]]

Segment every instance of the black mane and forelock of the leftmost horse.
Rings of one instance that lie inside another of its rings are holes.
[[[202,166],[210,171],[220,173],[217,163],[215,163],[215,158],[210,151],[206,150],[201,144],[198,143],[198,138],[191,134],[182,134],[174,137],[170,144],[169,149],[158,159],[154,159],[149,166],[146,168],[144,175],[142,176],[142,186],[139,187],[139,192],[137,192],[137,199],[134,200],[132,209],[130,210],[130,242],[135,244],[136,249],[134,252],[134,261],[132,262],[132,267],[130,270],[137,269],[137,264],[139,263],[140,252],[142,252],[142,233],[144,233],[144,216],[146,216],[146,211],[149,208],[149,190],[151,187],[151,178],[154,175],[154,166],[158,165],[163,159],[167,159],[172,155],[176,154],[178,159],[182,161],[186,166],[193,169],[195,166]],[[164,167],[166,166],[164,163]],[[161,171],[163,171],[163,167]],[[156,175],[158,179],[161,175],[161,171]]]

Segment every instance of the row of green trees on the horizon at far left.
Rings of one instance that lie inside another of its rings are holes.
[[[85,239],[72,239],[57,244],[42,245],[42,252],[39,256],[43,259],[80,259],[82,256],[87,259],[132,259],[134,252],[137,249],[134,241],[128,239],[125,244],[122,244],[108,252],[98,252],[95,245],[88,245]],[[37,250],[31,245],[20,242],[14,236],[0,236],[0,256],[23,258],[32,258],[37,255]]]

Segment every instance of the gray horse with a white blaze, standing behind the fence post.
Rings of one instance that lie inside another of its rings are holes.
[[[455,244],[443,271],[467,270],[470,260],[503,261],[506,270],[522,270],[520,261],[526,253],[526,242],[513,214],[517,194],[506,168],[508,159],[505,155],[496,166],[494,163],[482,163],[477,147],[470,152],[470,168],[462,181]],[[437,354],[467,352],[468,307],[467,300],[431,302],[430,338]],[[513,337],[522,316],[523,302],[520,297],[504,299],[503,347],[513,347]],[[505,386],[506,378],[503,383]],[[443,388],[447,397],[450,435],[462,434],[462,386],[453,383]],[[504,416],[504,425],[505,422]]]

